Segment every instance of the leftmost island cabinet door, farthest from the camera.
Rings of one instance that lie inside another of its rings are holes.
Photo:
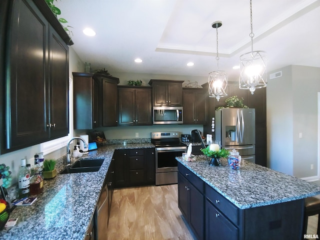
[[[182,215],[189,220],[189,193],[188,193],[188,181],[178,172],[178,207],[182,212]]]

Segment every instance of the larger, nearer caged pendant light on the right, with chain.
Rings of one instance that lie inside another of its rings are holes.
[[[266,53],[253,51],[252,0],[250,0],[251,51],[240,55],[239,88],[249,89],[251,94],[257,88],[266,87]]]

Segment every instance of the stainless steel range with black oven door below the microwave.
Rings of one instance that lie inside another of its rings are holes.
[[[186,152],[186,145],[179,141],[179,132],[151,132],[155,146],[155,185],[177,183],[176,156]]]

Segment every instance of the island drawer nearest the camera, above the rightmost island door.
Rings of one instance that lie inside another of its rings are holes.
[[[205,184],[205,196],[212,204],[219,209],[227,218],[229,218],[234,224],[239,224],[239,208],[237,208],[233,203],[227,200],[224,196],[219,194],[208,184]]]

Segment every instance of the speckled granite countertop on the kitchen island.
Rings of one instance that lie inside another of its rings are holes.
[[[270,168],[241,161],[240,170],[210,166],[204,155],[195,161],[176,159],[240,209],[270,205],[320,194],[320,186]]]

